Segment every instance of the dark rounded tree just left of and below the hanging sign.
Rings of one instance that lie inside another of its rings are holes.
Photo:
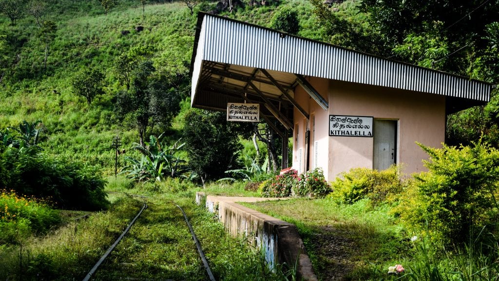
[[[201,178],[225,177],[235,167],[241,149],[236,122],[228,122],[223,112],[191,109],[184,119],[184,137],[189,165]]]

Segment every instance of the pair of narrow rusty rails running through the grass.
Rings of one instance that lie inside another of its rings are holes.
[[[135,194],[132,194],[132,196],[134,197],[141,197],[143,199],[145,199],[143,201],[143,206],[142,208],[138,211],[137,215],[130,221],[130,223],[128,224],[128,226],[125,228],[125,230],[119,235],[119,237],[114,241],[114,243],[106,250],[106,252],[100,257],[100,259],[95,263],[95,265],[92,267],[92,269],[90,269],[90,271],[87,273],[87,275],[85,276],[85,278],[83,278],[83,281],[91,281],[91,280],[94,280],[94,276],[96,276],[99,272],[99,267],[101,266],[101,264],[109,257],[109,255],[111,254],[111,252],[115,249],[115,247],[120,243],[120,241],[123,239],[123,237],[127,234],[127,232],[130,230],[130,228],[133,227],[134,223],[137,221],[137,219],[141,216],[141,214],[143,213],[143,211],[145,209],[148,208],[148,204],[146,202],[146,199],[147,197],[146,196],[142,196],[142,195],[135,195]],[[175,202],[171,202],[173,205],[175,205],[177,208],[178,208],[178,211],[182,213],[184,219],[185,219],[185,222],[189,228],[189,231],[191,233],[191,236],[192,236],[192,239],[194,240],[194,243],[196,244],[196,247],[197,247],[197,250],[198,250],[198,254],[199,254],[199,257],[200,259],[202,260],[203,262],[203,265],[204,265],[204,268],[205,268],[205,272],[206,272],[206,276],[208,277],[208,279],[210,281],[216,281],[216,278],[215,276],[213,275],[212,271],[211,271],[211,268],[210,268],[210,265],[208,263],[208,260],[206,259],[206,256],[202,250],[202,247],[201,247],[201,243],[199,242],[197,236],[196,236],[196,233],[194,232],[194,229],[189,221],[189,218],[186,214],[186,212],[184,211],[184,209],[178,205],[177,203]],[[100,269],[100,270],[105,270],[105,269]],[[161,276],[158,276],[158,278],[160,278],[161,280],[164,280],[161,278]],[[96,278],[98,280],[104,280],[102,279],[101,277],[98,277]],[[126,279],[130,279],[130,280],[140,280],[139,278],[133,278],[133,277],[127,277]],[[170,279],[167,279],[167,280],[170,280]]]

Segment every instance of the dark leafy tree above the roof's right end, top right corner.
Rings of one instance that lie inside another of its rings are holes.
[[[383,34],[392,48],[415,34],[438,35],[439,45],[447,46],[449,52],[440,57],[443,70],[472,75],[487,45],[486,26],[497,21],[499,5],[482,0],[362,0],[360,10],[369,14],[374,31]]]

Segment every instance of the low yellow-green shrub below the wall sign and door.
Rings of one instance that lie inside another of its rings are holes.
[[[399,176],[399,167],[395,165],[381,171],[353,168],[342,172],[332,182],[333,192],[330,197],[339,203],[353,203],[369,198],[373,204],[378,204],[390,194],[399,193],[404,184]]]

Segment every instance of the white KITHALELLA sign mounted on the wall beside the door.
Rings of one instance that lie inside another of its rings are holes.
[[[373,136],[373,117],[329,115],[329,136]]]

